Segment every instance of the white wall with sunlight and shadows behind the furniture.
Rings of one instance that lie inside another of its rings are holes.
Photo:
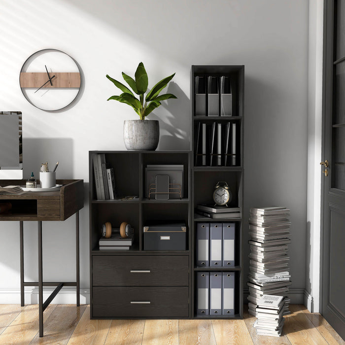
[[[178,97],[155,111],[158,149],[189,149],[191,65],[245,65],[245,221],[249,207],[291,208],[291,274],[305,287],[308,1],[304,0],[2,0],[0,109],[23,112],[25,175],[60,161],[58,178],[88,182],[88,151],[125,149],[122,123],[130,107],[105,78],[134,74],[139,61],[149,86],[176,72]],[[56,48],[80,65],[84,88],[66,111],[48,113],[23,97],[26,58]],[[85,190],[87,196],[87,188]],[[88,207],[81,216],[81,286],[89,286]],[[26,279],[37,279],[36,225],[25,223]],[[74,217],[43,223],[44,279],[74,278]],[[248,265],[244,224],[245,267]],[[19,288],[19,226],[0,223],[0,289]],[[6,291],[7,291],[6,290]],[[298,297],[300,298],[300,296]],[[18,299],[19,301],[19,299]],[[3,303],[1,298],[0,303]]]

